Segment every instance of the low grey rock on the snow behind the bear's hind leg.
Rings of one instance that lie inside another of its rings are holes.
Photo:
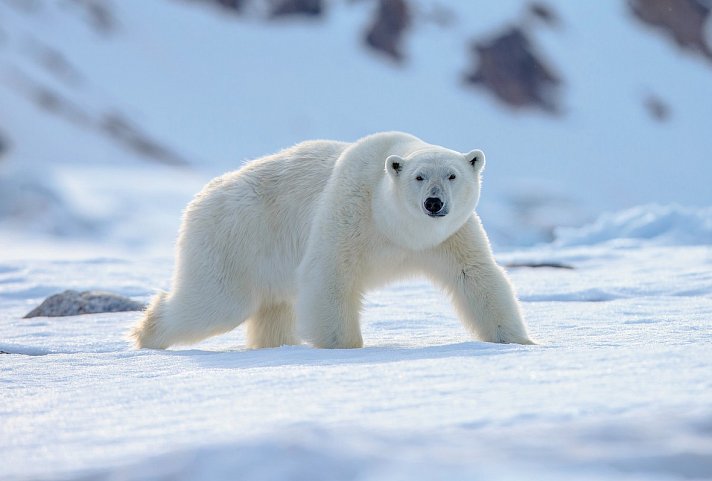
[[[140,302],[111,292],[67,290],[45,299],[42,304],[30,311],[25,319],[39,316],[60,317],[99,312],[140,311],[144,308],[145,305]]]

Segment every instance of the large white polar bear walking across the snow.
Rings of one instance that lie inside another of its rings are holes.
[[[218,177],[185,210],[172,291],[130,337],[164,349],[246,321],[251,348],[362,347],[364,292],[425,275],[475,337],[532,344],[474,212],[484,165],[480,150],[384,132],[304,142]]]

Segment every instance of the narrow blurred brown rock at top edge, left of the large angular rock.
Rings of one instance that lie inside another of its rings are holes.
[[[409,26],[410,9],[405,0],[379,0],[376,17],[366,32],[366,45],[402,60],[401,43]]]

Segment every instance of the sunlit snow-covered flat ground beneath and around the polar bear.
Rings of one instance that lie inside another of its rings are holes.
[[[134,351],[136,313],[21,316],[63,288],[147,299],[169,258],[3,261],[0,477],[712,479],[712,216],[677,210],[501,255],[573,267],[510,269],[537,346],[470,340],[414,281],[368,296],[364,349]]]

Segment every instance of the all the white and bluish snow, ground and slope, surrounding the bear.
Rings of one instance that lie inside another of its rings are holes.
[[[84,2],[0,0],[0,479],[712,479],[709,65],[623,2],[551,0],[561,27],[533,35],[565,114],[503,109],[459,79],[524,3],[476,3],[439,0],[454,21],[417,20],[395,66],[360,45],[369,2],[277,23],[106,2],[99,31]],[[570,267],[509,268],[538,345],[473,341],[422,280],[369,293],[357,350],[252,351],[239,328],[135,351],[137,313],[22,319],[66,289],[147,301],[209,178],[385,129],[485,150],[500,263]]]

